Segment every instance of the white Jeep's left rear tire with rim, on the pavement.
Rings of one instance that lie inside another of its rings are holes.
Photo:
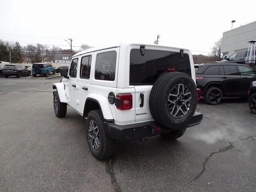
[[[86,138],[92,155],[98,160],[114,156],[116,140],[106,134],[100,110],[89,112],[86,120]]]

